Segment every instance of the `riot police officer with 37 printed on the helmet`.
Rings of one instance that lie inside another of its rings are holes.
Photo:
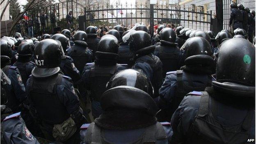
[[[60,71],[61,51],[61,43],[53,39],[37,44],[34,51],[36,67],[27,80],[26,93],[30,111],[44,137],[74,144],[79,142],[77,128],[84,117],[71,78]]]

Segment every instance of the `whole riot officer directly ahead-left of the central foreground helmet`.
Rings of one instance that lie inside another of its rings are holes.
[[[126,66],[117,64],[118,40],[113,35],[107,34],[98,43],[94,63],[86,64],[82,73],[85,89],[91,91],[91,111],[94,118],[102,113],[100,99],[105,91],[105,85],[114,73],[126,69]],[[85,95],[85,92],[82,93]]]

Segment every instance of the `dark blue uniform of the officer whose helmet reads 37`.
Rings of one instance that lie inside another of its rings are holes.
[[[72,119],[79,126],[77,122],[81,121],[76,121],[76,119],[81,119],[83,112],[71,78],[68,76],[55,74],[43,79],[31,76],[27,80],[26,92],[30,110],[40,122],[46,139],[53,140],[53,126],[62,124],[71,117],[71,114]],[[35,111],[37,114],[34,113]],[[79,131],[77,130],[65,143],[73,144],[78,139]]]

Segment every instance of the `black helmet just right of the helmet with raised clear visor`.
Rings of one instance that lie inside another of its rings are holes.
[[[171,43],[175,43],[176,41],[176,33],[170,27],[165,27],[162,29],[160,37],[162,41],[168,41]]]

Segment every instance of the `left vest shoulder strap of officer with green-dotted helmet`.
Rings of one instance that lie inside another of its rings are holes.
[[[209,94],[206,91],[202,91],[199,112],[198,112],[199,117],[203,117],[206,114],[208,114],[209,99],[210,99]]]

